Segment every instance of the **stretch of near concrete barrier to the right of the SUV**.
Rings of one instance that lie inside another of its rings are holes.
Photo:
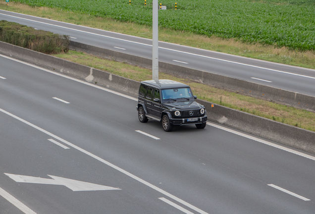
[[[315,132],[266,119],[247,112],[197,100],[207,109],[208,120],[249,134],[315,154]]]

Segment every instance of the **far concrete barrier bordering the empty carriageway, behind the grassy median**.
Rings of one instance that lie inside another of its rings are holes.
[[[70,49],[152,69],[152,59],[149,58],[102,49],[73,41],[70,42]],[[278,104],[315,111],[314,96],[281,90],[271,86],[265,86],[258,83],[248,82],[241,79],[222,76],[202,70],[195,70],[192,68],[165,62],[159,62],[158,66],[159,71],[172,74],[177,77],[195,80],[206,85],[214,86],[216,88],[227,89],[229,91],[272,101]]]

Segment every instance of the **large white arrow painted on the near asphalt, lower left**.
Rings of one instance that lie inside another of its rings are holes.
[[[72,180],[63,177],[57,177],[53,175],[48,175],[52,179],[32,177],[26,175],[15,175],[4,173],[11,179],[20,183],[36,183],[36,184],[52,184],[52,185],[63,185],[71,189],[72,191],[96,191],[96,190],[121,190],[114,187],[103,186],[99,184],[88,183],[84,181]]]

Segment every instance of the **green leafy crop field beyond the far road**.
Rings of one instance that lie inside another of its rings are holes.
[[[152,0],[14,0],[152,25]],[[158,0],[159,25],[243,42],[315,50],[315,0]],[[177,2],[177,10],[175,10]]]

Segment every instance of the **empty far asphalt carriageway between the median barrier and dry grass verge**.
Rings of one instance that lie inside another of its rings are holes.
[[[72,40],[152,58],[152,40],[8,11],[0,19],[66,34]],[[159,60],[315,96],[315,70],[159,42]]]

